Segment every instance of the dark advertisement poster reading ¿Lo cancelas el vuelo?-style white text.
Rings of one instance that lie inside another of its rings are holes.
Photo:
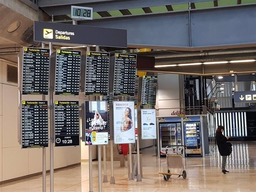
[[[85,144],[108,144],[108,102],[85,101]]]

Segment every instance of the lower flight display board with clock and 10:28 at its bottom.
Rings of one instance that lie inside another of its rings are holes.
[[[55,146],[79,145],[79,102],[55,101]]]

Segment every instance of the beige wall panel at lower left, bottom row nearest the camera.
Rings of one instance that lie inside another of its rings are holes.
[[[3,181],[28,175],[28,149],[3,148],[2,163]]]

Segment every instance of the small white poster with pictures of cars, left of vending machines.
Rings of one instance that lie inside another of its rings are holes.
[[[156,110],[141,110],[141,138],[156,139]]]

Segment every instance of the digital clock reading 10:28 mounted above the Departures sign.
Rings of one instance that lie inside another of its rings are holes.
[[[71,18],[74,20],[90,19],[92,20],[92,8],[71,6]]]

